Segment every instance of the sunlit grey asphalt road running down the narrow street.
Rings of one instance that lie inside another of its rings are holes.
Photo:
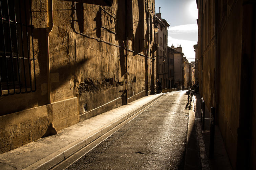
[[[185,91],[165,94],[67,169],[184,169],[186,104]]]

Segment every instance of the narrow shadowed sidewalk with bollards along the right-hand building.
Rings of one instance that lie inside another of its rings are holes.
[[[209,142],[210,142],[210,112],[205,107],[205,129],[202,131],[201,117],[201,96],[200,94],[194,95],[195,104],[195,118],[198,143],[201,157],[202,170],[232,170],[228,154],[222,140],[220,130],[215,125],[215,138],[214,138],[214,158],[209,159]]]

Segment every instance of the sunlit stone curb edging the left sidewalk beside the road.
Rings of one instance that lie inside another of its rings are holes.
[[[95,139],[99,138],[106,132],[113,129],[115,126],[119,125],[138,111],[142,110],[146,106],[150,105],[152,102],[156,101],[158,98],[162,97],[164,93],[153,98],[148,103],[144,104],[143,106],[138,106],[135,109],[127,112],[126,114],[116,118],[109,123],[101,126],[101,128],[92,131],[91,133],[77,139],[76,141],[66,145],[65,147],[49,154],[48,156],[44,157],[43,159],[35,162],[34,164],[29,165],[28,167],[24,168],[24,170],[48,170],[53,166],[57,165],[58,163],[64,161],[66,158],[71,156],[72,154],[76,153]]]

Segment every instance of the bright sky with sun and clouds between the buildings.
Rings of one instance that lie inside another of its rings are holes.
[[[189,62],[195,61],[194,45],[197,44],[198,9],[196,0],[155,0],[155,13],[161,7],[162,18],[170,25],[168,46],[181,45]]]

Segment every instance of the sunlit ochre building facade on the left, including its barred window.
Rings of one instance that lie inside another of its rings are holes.
[[[154,91],[154,0],[1,6],[0,153]]]

